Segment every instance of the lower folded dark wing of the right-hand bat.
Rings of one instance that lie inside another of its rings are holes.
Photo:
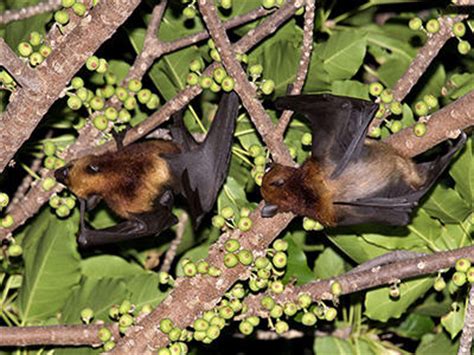
[[[466,134],[463,132],[448,151],[430,162],[416,165],[418,172],[424,176],[422,186],[414,188],[403,179],[396,180],[373,196],[350,202],[336,202],[338,225],[361,223],[383,223],[389,225],[406,225],[419,200],[433,186],[438,177],[449,165],[452,156],[464,145]]]

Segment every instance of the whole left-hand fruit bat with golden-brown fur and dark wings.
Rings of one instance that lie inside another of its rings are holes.
[[[88,155],[55,171],[58,181],[80,200],[81,247],[157,235],[177,222],[172,213],[181,195],[197,227],[214,205],[227,176],[239,99],[224,94],[206,138],[198,144],[175,115],[172,141],[146,140],[116,152]],[[118,142],[120,143],[120,142]],[[88,228],[85,209],[104,200],[123,222],[101,230]]]

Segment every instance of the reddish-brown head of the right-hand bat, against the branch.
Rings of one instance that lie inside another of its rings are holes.
[[[266,202],[262,217],[273,217],[277,212],[294,209],[296,201],[292,191],[292,179],[296,172],[297,169],[280,164],[267,166],[260,190]]]

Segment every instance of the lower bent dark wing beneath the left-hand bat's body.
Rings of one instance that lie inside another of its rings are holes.
[[[81,230],[77,242],[82,249],[105,244],[156,236],[176,224],[178,219],[171,212],[174,197],[171,191],[161,195],[154,210],[134,216],[134,218],[104,229],[90,229],[84,221],[85,202],[81,200]]]

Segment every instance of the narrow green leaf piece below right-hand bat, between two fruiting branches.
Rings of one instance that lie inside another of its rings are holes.
[[[313,272],[308,266],[304,251],[294,242],[291,233],[287,233],[284,239],[288,242],[288,264],[283,282],[288,283],[290,280],[296,279],[297,285],[303,285],[313,281]]]

